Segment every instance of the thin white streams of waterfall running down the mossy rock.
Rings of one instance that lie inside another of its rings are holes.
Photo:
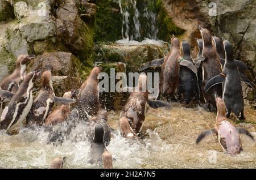
[[[141,3],[138,5],[138,3]],[[144,38],[157,39],[156,12],[148,8],[152,0],[118,0],[122,15],[122,38],[142,41]],[[138,8],[138,6],[140,6]]]

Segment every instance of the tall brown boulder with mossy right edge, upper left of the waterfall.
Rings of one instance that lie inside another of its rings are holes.
[[[86,61],[93,48],[93,32],[79,17],[75,0],[63,1],[56,11],[56,35],[73,54]],[[68,37],[68,38],[67,38]]]

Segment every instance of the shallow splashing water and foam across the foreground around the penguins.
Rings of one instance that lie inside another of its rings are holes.
[[[112,134],[107,148],[113,155],[114,168],[256,167],[256,146],[249,138],[241,135],[244,151],[237,156],[223,153],[214,135],[196,145],[197,135],[214,126],[216,114],[200,107],[172,105],[172,110],[148,109],[142,129],[146,138],[142,143],[122,138],[119,131]],[[110,126],[118,130],[119,112],[108,114]],[[233,124],[246,127],[256,136],[256,111],[246,106],[245,115],[246,123]],[[49,168],[58,156],[67,156],[64,168],[102,168],[101,164],[88,163],[90,144],[82,133],[85,128],[84,124],[77,126],[71,136],[79,134],[79,138],[57,147],[47,144],[48,132],[43,127],[24,128],[14,136],[0,131],[0,168]]]

